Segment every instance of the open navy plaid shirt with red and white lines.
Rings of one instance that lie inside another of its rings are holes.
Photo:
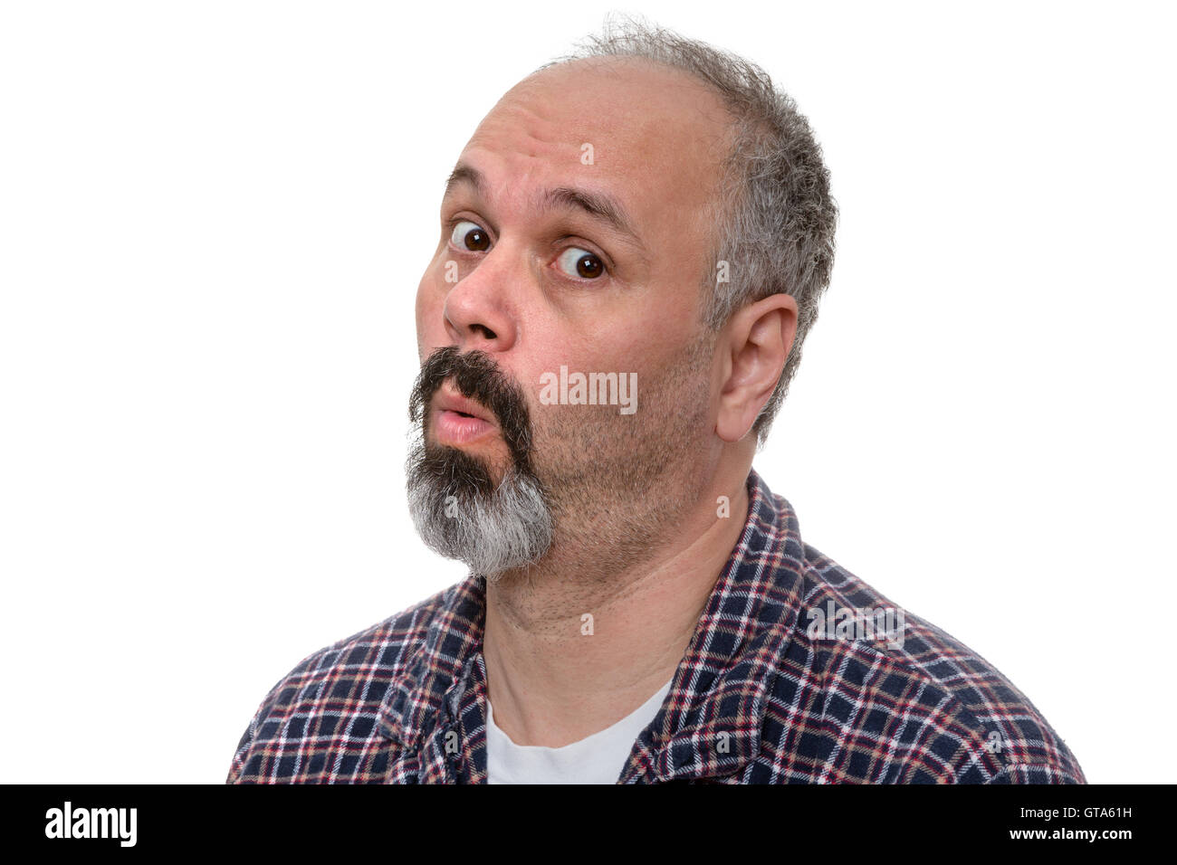
[[[1086,783],[1030,700],[936,626],[904,613],[890,641],[813,627],[813,610],[896,607],[804,544],[754,471],[747,488],[739,544],[619,784]],[[470,575],[306,658],[228,783],[485,784],[485,587]]]

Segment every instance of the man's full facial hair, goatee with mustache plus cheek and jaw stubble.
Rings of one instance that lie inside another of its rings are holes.
[[[490,355],[453,346],[433,352],[408,412],[418,437],[406,485],[421,539],[491,583],[545,555],[603,580],[651,557],[713,467],[706,458],[712,350],[704,334],[645,378],[636,415],[544,406],[540,448],[523,388]],[[499,422],[508,458],[498,484],[481,458],[428,440],[431,400],[447,379]]]

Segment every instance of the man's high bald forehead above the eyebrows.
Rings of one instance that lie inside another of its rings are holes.
[[[594,188],[623,201],[647,231],[681,229],[714,198],[730,134],[719,97],[683,72],[634,59],[577,60],[508,91],[459,161],[520,201],[544,186]]]

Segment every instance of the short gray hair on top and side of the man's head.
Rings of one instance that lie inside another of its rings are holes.
[[[714,89],[733,119],[732,147],[723,166],[722,200],[709,268],[703,274],[704,324],[718,331],[736,311],[772,294],[797,301],[797,333],[777,386],[752,428],[758,446],[789,391],[802,344],[833,268],[838,208],[830,172],[809,120],[756,64],[632,16],[609,16],[571,60],[641,58],[686,72]],[[727,282],[717,271],[727,262]],[[725,287],[722,287],[725,286]]]

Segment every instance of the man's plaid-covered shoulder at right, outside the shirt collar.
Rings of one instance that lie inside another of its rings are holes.
[[[780,714],[790,701],[814,780],[1086,783],[1053,727],[985,658],[804,550],[786,676],[770,704]]]

